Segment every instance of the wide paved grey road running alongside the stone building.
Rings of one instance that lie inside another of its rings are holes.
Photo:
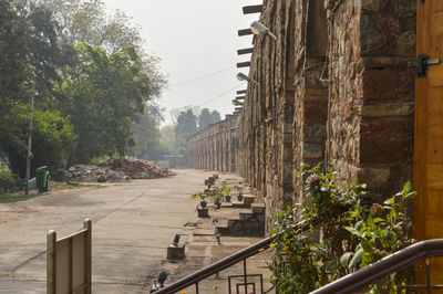
[[[85,218],[93,228],[94,293],[146,293],[175,233],[195,220],[189,195],[208,175],[177,170],[171,178],[0,203],[0,293],[45,292],[47,231],[64,237]]]

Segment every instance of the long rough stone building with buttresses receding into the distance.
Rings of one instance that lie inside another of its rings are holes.
[[[416,1],[265,0],[259,11],[277,41],[254,35],[243,108],[189,138],[190,167],[238,172],[268,214],[300,201],[302,162],[381,196],[411,180]]]

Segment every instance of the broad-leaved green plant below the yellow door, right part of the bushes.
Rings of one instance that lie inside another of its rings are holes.
[[[346,229],[358,238],[359,244],[354,252],[341,256],[341,263],[348,267],[363,267],[413,244],[415,240],[412,239],[412,220],[406,203],[414,197],[411,182],[406,182],[402,191],[383,202],[384,206],[373,203],[368,211],[368,207],[358,202],[349,213],[357,222]],[[382,287],[389,293],[398,293],[396,285],[413,280],[414,272],[409,269],[391,275]],[[372,293],[379,293],[377,287]]]

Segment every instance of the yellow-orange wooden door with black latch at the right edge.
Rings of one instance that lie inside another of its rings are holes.
[[[416,54],[430,64],[415,80],[414,234],[425,240],[443,238],[443,0],[418,0],[416,30]],[[432,272],[443,283],[442,259]]]

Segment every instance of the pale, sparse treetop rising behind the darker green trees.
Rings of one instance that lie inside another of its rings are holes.
[[[131,18],[123,11],[107,15],[101,0],[44,0],[43,3],[59,22],[61,33],[58,36],[63,44],[82,42],[103,48],[107,53],[133,46],[141,56],[143,71],[150,76],[151,95],[159,97],[167,86],[166,76],[157,66],[159,59],[144,52],[137,28],[131,25]]]

